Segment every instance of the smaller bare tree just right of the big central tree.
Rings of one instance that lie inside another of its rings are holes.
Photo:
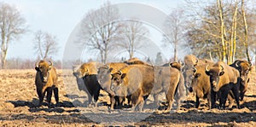
[[[136,50],[146,45],[147,41],[145,36],[147,36],[148,33],[148,29],[143,26],[140,21],[135,19],[126,20],[125,23],[122,24],[122,41],[119,41],[117,45],[127,50],[130,58],[133,58]]]

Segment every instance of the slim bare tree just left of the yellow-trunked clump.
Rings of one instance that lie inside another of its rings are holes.
[[[185,22],[184,10],[173,9],[164,25],[164,42],[174,44],[174,61],[177,61],[177,45],[183,42]]]

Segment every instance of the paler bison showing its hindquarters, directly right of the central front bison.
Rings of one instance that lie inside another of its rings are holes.
[[[154,95],[154,103],[158,106],[158,95],[164,92],[168,107],[166,111],[172,109],[172,102],[177,102],[177,111],[180,109],[180,102],[186,95],[183,74],[172,66],[154,66],[154,88],[151,95]]]

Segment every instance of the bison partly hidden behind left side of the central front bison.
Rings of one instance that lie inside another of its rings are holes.
[[[123,97],[119,97],[114,95],[113,91],[110,89],[111,86],[111,73],[117,72],[119,69],[128,66],[122,62],[112,62],[106,65],[100,66],[97,72],[97,80],[101,84],[102,89],[108,92],[110,97],[110,109],[113,110],[114,105],[118,105],[121,107],[122,101],[124,101]],[[116,103],[117,102],[117,103]]]

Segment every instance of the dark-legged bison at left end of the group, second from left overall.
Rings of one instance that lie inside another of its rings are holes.
[[[73,72],[73,75],[79,79],[83,78],[84,85],[85,85],[85,92],[88,95],[88,106],[91,103],[95,103],[95,107],[97,107],[97,100],[100,95],[100,90],[102,89],[101,85],[98,83],[96,75],[97,75],[97,68],[102,66],[102,63],[99,62],[88,62],[84,63],[79,67],[76,72]],[[82,83],[79,84],[79,89],[84,89],[81,86]],[[93,98],[93,100],[92,100]]]

